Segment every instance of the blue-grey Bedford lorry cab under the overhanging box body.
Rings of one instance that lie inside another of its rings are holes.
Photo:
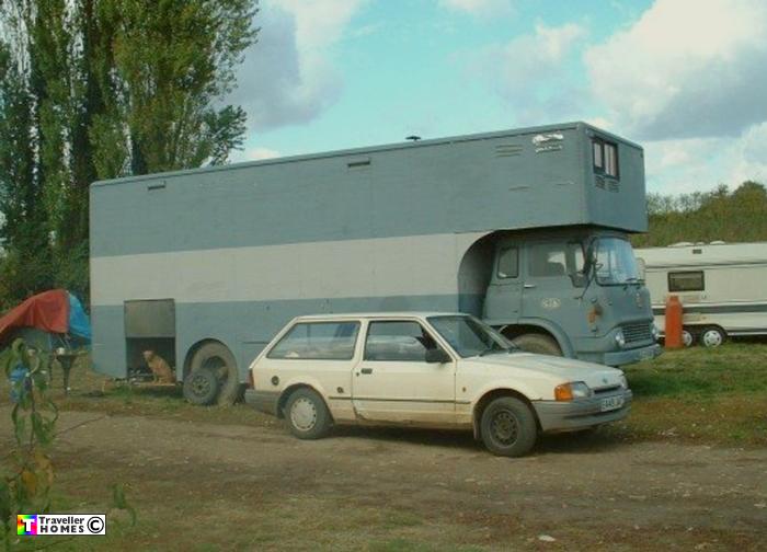
[[[660,354],[650,296],[625,233],[500,237],[483,318],[527,350],[620,366]]]

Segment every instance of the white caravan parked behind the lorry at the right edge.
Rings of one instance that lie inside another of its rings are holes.
[[[729,335],[767,335],[767,242],[683,242],[636,255],[659,327],[668,296],[679,297],[685,345],[716,347]]]

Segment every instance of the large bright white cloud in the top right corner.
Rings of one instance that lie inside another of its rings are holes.
[[[589,48],[595,97],[644,139],[737,136],[767,119],[767,2],[656,0]]]

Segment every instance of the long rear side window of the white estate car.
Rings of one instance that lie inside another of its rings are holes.
[[[351,360],[359,322],[300,322],[293,326],[266,358]]]

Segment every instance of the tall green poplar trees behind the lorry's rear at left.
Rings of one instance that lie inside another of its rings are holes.
[[[0,0],[0,309],[88,298],[88,187],[224,163],[257,0]],[[140,216],[140,214],[136,214]]]

